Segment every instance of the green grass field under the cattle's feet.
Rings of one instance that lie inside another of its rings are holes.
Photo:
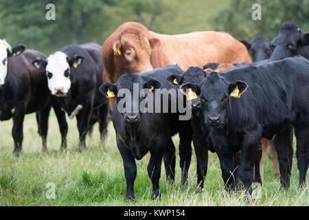
[[[271,162],[266,159],[261,199],[247,203],[244,192],[227,193],[221,178],[218,159],[209,153],[205,191],[196,189],[196,159],[193,153],[187,186],[180,184],[179,157],[176,160],[176,183],[168,185],[162,164],[162,198],[150,199],[152,186],[147,174],[149,155],[137,161],[136,203],[126,203],[126,181],[122,158],[115,144],[113,124],[108,126],[104,143],[100,142],[98,124],[87,137],[87,151],[78,152],[76,120],[69,121],[68,149],[60,151],[60,133],[54,113],[49,118],[48,153],[41,151],[35,115],[24,122],[23,155],[14,157],[12,120],[0,122],[0,206],[308,206],[309,187],[298,188],[299,173],[295,156],[291,187],[279,191],[279,179],[273,177]],[[179,139],[174,137],[178,146]],[[177,152],[178,155],[178,152]],[[308,176],[308,175],[307,175]],[[56,186],[56,199],[47,199],[47,183]],[[308,185],[308,184],[307,184]]]

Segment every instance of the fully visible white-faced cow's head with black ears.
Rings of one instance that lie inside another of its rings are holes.
[[[71,87],[71,69],[82,64],[83,56],[78,54],[73,57],[63,52],[55,52],[46,61],[38,58],[32,62],[36,69],[45,69],[48,88],[52,95],[65,96]]]

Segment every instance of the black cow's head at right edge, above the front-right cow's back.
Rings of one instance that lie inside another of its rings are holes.
[[[271,41],[273,54],[270,61],[281,60],[290,56],[301,55],[309,58],[309,33],[301,32],[295,23],[282,24],[278,36]]]

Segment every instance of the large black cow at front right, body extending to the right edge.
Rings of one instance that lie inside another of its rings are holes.
[[[299,184],[305,184],[309,148],[308,69],[309,61],[305,58],[285,58],[234,67],[209,74],[202,83],[181,86],[200,95],[207,143],[222,153],[242,151],[240,179],[249,193],[254,152],[261,137],[274,137],[281,184],[288,188],[293,158],[289,148],[291,126],[295,127],[297,138]]]

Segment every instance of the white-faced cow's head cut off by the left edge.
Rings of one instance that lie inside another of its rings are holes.
[[[0,39],[0,86],[5,82],[8,74],[8,57],[18,56],[25,50],[25,45],[11,47],[5,39]]]

